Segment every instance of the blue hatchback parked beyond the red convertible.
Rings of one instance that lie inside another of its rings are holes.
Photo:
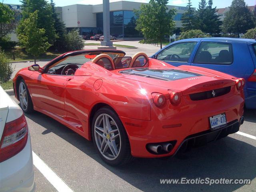
[[[175,41],[151,56],[173,66],[210,68],[244,78],[245,106],[256,108],[256,40],[193,38]]]

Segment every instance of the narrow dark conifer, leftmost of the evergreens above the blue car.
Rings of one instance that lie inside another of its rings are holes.
[[[192,8],[191,0],[188,0],[188,10],[182,15],[181,22],[183,31],[191,30],[194,28],[194,9]]]

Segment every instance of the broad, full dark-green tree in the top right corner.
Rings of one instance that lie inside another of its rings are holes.
[[[231,32],[238,35],[246,30],[255,27],[255,17],[248,9],[244,0],[233,0],[223,22],[224,32]]]

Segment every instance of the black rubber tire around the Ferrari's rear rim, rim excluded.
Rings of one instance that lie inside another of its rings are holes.
[[[120,152],[119,152],[118,156],[116,157],[116,159],[114,159],[114,160],[108,160],[107,158],[105,158],[101,154],[101,152],[98,149],[98,146],[96,144],[94,126],[95,126],[97,117],[102,114],[108,114],[115,121],[116,125],[118,126],[119,133],[120,133],[120,138],[121,138],[120,139],[121,140]],[[118,115],[116,114],[116,112],[114,112],[110,107],[101,108],[95,113],[93,120],[92,120],[92,139],[93,139],[94,146],[95,146],[98,154],[100,155],[102,160],[104,162],[106,162],[107,164],[110,164],[111,166],[119,166],[122,164],[127,164],[128,162],[133,160],[133,157],[131,155],[130,142],[129,142],[126,130],[125,130],[121,120],[119,119]]]

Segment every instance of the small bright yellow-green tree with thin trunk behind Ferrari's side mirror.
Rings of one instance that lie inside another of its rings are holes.
[[[28,18],[22,20],[20,27],[24,29],[22,33],[18,34],[20,46],[26,48],[26,52],[34,56],[36,64],[36,58],[51,46],[47,42],[44,28],[38,28],[38,11],[36,10]]]

